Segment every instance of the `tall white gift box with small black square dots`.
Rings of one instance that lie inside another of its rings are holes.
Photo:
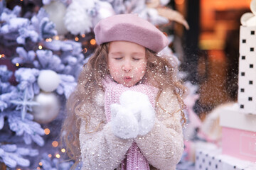
[[[240,26],[239,45],[240,112],[256,115],[256,27]]]

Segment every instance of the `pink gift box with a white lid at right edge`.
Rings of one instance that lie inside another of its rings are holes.
[[[243,114],[238,103],[220,114],[223,154],[256,162],[256,115]]]

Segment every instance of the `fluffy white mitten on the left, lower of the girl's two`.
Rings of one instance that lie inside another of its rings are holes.
[[[132,139],[137,137],[139,125],[137,118],[119,104],[110,105],[112,132],[122,139]]]

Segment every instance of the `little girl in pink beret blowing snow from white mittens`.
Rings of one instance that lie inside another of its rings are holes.
[[[185,89],[166,36],[133,14],[95,26],[99,45],[68,99],[63,140],[82,169],[176,169],[183,153]]]

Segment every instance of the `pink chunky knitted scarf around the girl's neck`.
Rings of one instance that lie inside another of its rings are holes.
[[[110,105],[119,103],[119,97],[124,91],[132,90],[139,91],[142,94],[149,96],[151,105],[155,106],[155,97],[158,92],[154,86],[148,86],[145,84],[138,84],[132,87],[125,87],[122,84],[117,84],[110,77],[107,77],[103,81],[105,86],[105,114],[107,121],[111,120]],[[127,157],[122,161],[122,170],[149,170],[149,163],[143,156],[136,142],[132,143],[132,147],[128,149]]]

